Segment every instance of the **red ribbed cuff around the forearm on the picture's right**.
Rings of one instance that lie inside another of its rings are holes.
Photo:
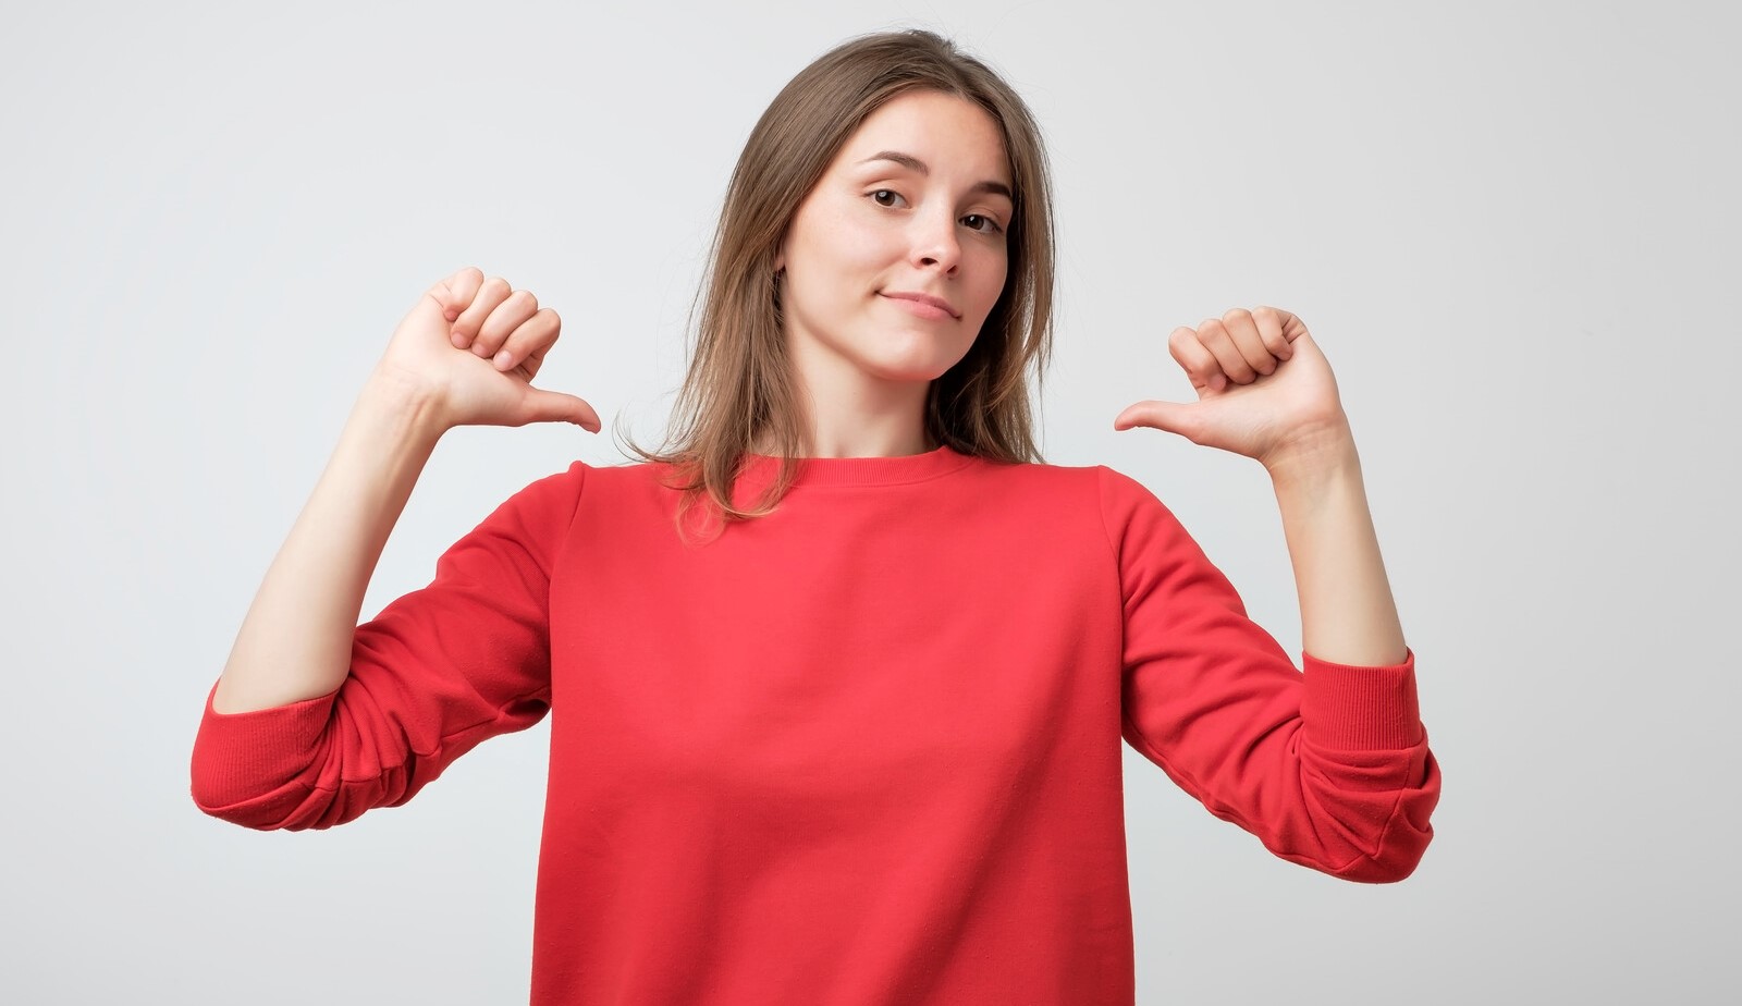
[[[1352,667],[1301,654],[1306,736],[1329,750],[1401,750],[1421,743],[1415,651],[1390,667]]]

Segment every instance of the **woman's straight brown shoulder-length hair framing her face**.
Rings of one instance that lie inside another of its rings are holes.
[[[854,38],[822,54],[775,96],[732,171],[714,233],[702,315],[660,451],[688,508],[704,494],[725,520],[773,510],[808,449],[787,362],[775,256],[800,204],[859,125],[892,97],[941,91],[974,101],[1003,136],[1016,190],[1005,230],[1003,292],[967,355],[932,381],[925,432],[935,444],[1000,461],[1038,461],[1028,369],[1045,371],[1052,336],[1052,195],[1040,129],[1023,99],[979,59],[930,31]],[[732,500],[754,444],[782,458],[751,506]]]

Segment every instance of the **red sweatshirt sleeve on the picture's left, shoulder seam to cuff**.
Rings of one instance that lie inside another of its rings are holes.
[[[533,482],[448,548],[429,587],[357,627],[336,693],[242,714],[207,694],[195,804],[251,828],[326,828],[402,804],[483,740],[538,722],[550,573],[584,480],[575,463]]]

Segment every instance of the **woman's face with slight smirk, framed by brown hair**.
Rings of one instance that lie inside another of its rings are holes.
[[[866,118],[775,259],[787,348],[814,393],[923,390],[962,360],[1003,291],[1010,191],[977,104],[913,91]]]

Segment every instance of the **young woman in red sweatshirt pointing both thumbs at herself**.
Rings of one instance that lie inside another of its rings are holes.
[[[1131,1003],[1120,741],[1275,855],[1408,875],[1439,775],[1331,371],[1300,319],[1172,332],[1157,426],[1261,461],[1305,674],[1148,491],[1036,463],[1052,228],[981,63],[876,35],[800,73],[721,218],[671,439],[503,503],[357,625],[444,430],[594,411],[462,270],[411,308],[193,752],[207,813],[394,806],[552,714],[535,1003]]]

